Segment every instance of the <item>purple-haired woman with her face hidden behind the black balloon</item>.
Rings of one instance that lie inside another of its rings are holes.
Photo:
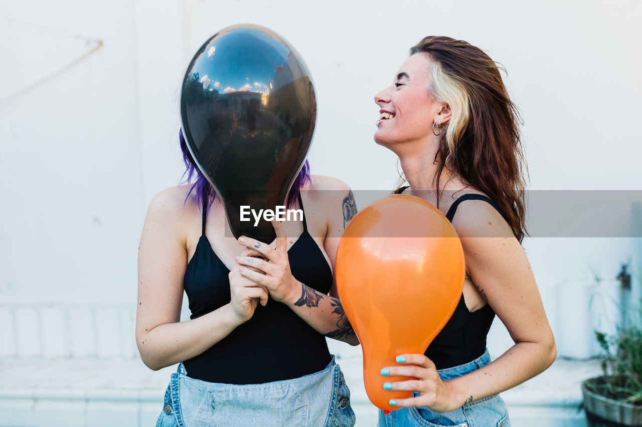
[[[352,426],[325,342],[358,344],[333,280],[351,190],[306,162],[287,199],[303,220],[273,222],[272,243],[236,240],[182,132],[180,146],[187,184],[153,197],[138,254],[141,358],[154,370],[179,364],[157,426]],[[183,292],[191,316],[180,322]]]

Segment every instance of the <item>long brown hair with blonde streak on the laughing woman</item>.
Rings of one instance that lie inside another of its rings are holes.
[[[526,232],[526,163],[520,117],[498,66],[482,49],[450,37],[425,37],[410,48],[410,54],[415,53],[428,54],[428,90],[435,101],[451,108],[435,156],[437,200],[445,167],[487,194],[521,242]]]

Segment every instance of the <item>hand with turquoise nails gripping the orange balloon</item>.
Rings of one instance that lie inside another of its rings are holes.
[[[405,354],[396,358],[397,364],[381,369],[383,376],[412,376],[416,380],[394,381],[383,384],[385,390],[418,391],[419,396],[408,399],[390,399],[392,406],[428,406],[435,412],[449,412],[464,405],[458,399],[451,383],[437,373],[435,364],[421,354]]]

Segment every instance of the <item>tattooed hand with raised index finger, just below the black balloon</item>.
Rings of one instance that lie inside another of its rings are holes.
[[[273,300],[285,303],[287,301],[296,301],[301,290],[301,283],[294,278],[290,271],[290,261],[288,260],[288,237],[286,236],[283,226],[279,221],[272,221],[272,226],[277,235],[276,249],[272,246],[259,242],[249,237],[239,237],[239,244],[246,246],[252,251],[256,251],[265,260],[256,258],[251,255],[244,256],[241,254],[236,257],[239,265],[253,267],[240,267],[239,272],[254,281],[258,285],[265,287],[270,292]],[[247,249],[246,249],[247,251]],[[244,254],[247,254],[243,251]]]

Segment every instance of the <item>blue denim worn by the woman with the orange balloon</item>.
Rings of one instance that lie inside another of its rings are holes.
[[[488,350],[464,365],[440,369],[437,371],[442,380],[452,380],[458,376],[473,372],[480,367],[490,363]],[[419,396],[419,392],[413,392],[413,397]],[[401,408],[386,415],[379,410],[379,427],[510,427],[508,410],[504,400],[496,394],[488,398],[479,399],[466,403],[461,408],[451,412],[435,412],[427,406],[416,408]]]

